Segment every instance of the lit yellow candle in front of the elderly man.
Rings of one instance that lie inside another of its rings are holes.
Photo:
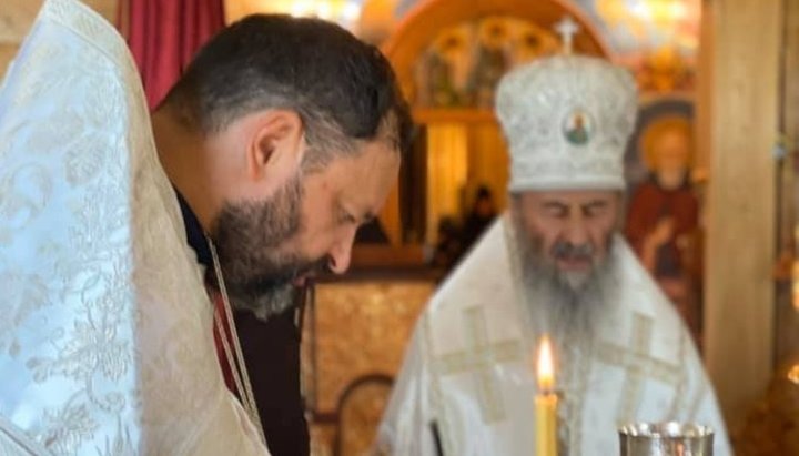
[[[536,363],[538,393],[535,397],[536,409],[536,456],[557,456],[557,394],[555,386],[555,365],[552,344],[544,335],[538,344]]]

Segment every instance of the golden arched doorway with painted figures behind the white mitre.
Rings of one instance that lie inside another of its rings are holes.
[[[406,242],[433,244],[442,221],[466,216],[478,188],[506,205],[508,163],[493,92],[513,67],[560,51],[564,18],[576,53],[611,58],[584,13],[562,0],[429,0],[383,45],[419,125],[401,176]]]

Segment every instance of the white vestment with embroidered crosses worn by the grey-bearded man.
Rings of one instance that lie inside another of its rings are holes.
[[[507,216],[498,219],[419,317],[380,427],[382,452],[534,454],[537,335],[522,315],[508,226]],[[562,456],[618,455],[620,424],[663,420],[708,425],[715,455],[731,455],[712,387],[674,306],[624,240],[610,255],[618,316],[579,341],[590,356],[573,359],[562,372],[569,378],[558,379]]]

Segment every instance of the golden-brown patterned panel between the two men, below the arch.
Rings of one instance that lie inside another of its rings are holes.
[[[333,413],[341,394],[361,376],[395,376],[432,281],[375,280],[316,285],[313,315],[306,315],[303,363],[306,393],[315,412]]]

